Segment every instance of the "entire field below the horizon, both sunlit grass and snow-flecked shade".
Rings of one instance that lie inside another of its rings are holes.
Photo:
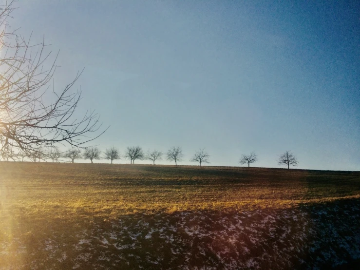
[[[0,269],[340,269],[359,209],[359,172],[0,162]]]

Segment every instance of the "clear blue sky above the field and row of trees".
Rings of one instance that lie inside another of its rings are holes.
[[[205,148],[213,166],[255,151],[253,166],[274,168],[289,150],[298,169],[360,170],[357,0],[15,5],[11,27],[59,51],[57,91],[85,68],[76,113],[110,126],[92,142],[101,150],[181,146],[179,164],[195,165]]]

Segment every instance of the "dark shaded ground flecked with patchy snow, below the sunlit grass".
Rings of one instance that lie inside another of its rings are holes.
[[[46,258],[49,269],[332,268],[360,258],[358,220],[357,200],[285,210],[124,215],[77,231],[73,244],[59,233],[49,235],[22,266],[44,268]],[[27,252],[23,244],[15,250],[9,245],[1,244],[0,261]]]

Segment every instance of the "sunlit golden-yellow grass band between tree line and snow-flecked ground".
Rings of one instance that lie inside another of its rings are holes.
[[[345,198],[360,198],[360,173],[0,162],[0,250],[18,254],[2,263],[5,269],[29,267],[30,251],[49,241],[49,235],[72,243],[64,248],[69,254],[79,231],[110,228],[123,216],[282,210]],[[19,245],[4,244],[16,241]],[[26,255],[19,256],[21,245]],[[37,257],[46,268],[58,267],[51,260],[45,263],[48,259]]]

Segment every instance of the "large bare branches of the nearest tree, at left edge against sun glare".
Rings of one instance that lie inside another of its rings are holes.
[[[81,90],[71,89],[81,72],[56,91],[52,78],[57,55],[50,58],[44,40],[33,44],[31,37],[8,31],[13,10],[12,0],[0,5],[0,152],[9,145],[33,155],[41,147],[47,156],[57,143],[83,147],[106,130],[99,131],[99,116],[92,110],[79,118],[74,115]]]

